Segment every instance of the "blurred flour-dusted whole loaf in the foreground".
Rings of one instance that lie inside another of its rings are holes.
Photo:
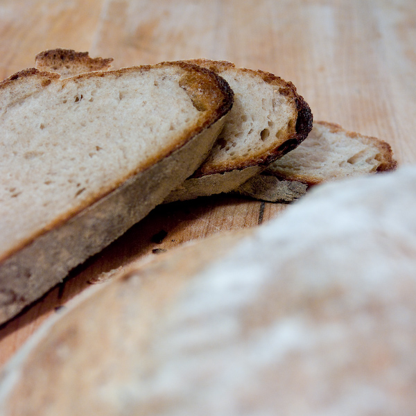
[[[414,415],[415,196],[415,166],[324,184],[130,270],[6,365],[1,415]]]

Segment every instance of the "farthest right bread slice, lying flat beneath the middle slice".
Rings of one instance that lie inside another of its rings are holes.
[[[349,132],[335,123],[314,121],[308,138],[263,172],[274,177],[257,175],[238,191],[270,202],[291,202],[315,184],[395,168],[397,162],[385,141]],[[295,188],[300,192],[292,193]]]

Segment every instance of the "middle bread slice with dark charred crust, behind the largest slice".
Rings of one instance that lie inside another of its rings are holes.
[[[165,202],[233,191],[298,146],[312,128],[309,105],[292,83],[226,61],[191,60],[223,77],[234,105],[207,160]]]

